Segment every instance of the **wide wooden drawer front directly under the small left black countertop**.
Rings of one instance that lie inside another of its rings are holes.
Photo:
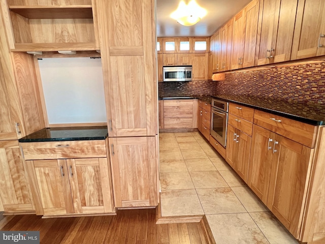
[[[105,158],[105,140],[20,143],[25,160]]]

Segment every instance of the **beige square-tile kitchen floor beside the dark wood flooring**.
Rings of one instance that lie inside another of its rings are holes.
[[[160,133],[161,216],[206,215],[217,244],[297,244],[200,132]]]

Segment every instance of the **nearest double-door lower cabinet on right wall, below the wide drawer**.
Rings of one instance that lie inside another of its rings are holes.
[[[253,126],[248,186],[297,239],[304,213],[312,150]]]

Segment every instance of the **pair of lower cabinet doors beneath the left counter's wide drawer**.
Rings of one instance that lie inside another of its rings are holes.
[[[113,212],[107,158],[26,161],[34,165],[45,216]]]

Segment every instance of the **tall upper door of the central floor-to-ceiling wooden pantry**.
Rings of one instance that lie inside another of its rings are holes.
[[[154,2],[95,2],[109,137],[156,135]]]

